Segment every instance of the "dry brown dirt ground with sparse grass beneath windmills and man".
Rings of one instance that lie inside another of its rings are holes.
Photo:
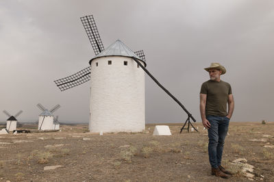
[[[234,172],[228,180],[210,174],[207,131],[195,126],[199,133],[180,134],[181,124],[169,124],[171,136],[153,136],[154,125],[142,133],[99,135],[87,125],[66,125],[0,135],[0,181],[274,181],[274,122],[230,123],[223,151],[223,166]],[[254,177],[232,162],[238,158],[254,166]]]

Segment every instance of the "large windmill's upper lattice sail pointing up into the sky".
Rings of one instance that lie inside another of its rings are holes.
[[[80,18],[84,28],[86,30],[86,34],[88,35],[88,39],[90,40],[92,49],[95,51],[95,55],[101,53],[103,51],[103,43],[100,38],[97,26],[95,24],[95,20],[92,15],[83,16]]]

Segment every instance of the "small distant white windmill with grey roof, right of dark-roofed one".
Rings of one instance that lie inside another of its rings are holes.
[[[58,125],[58,121],[55,120],[53,116],[53,112],[59,109],[61,106],[55,105],[52,109],[46,109],[42,104],[38,103],[37,107],[41,109],[42,113],[39,114],[38,120],[38,130],[56,130],[56,125]],[[59,129],[59,125],[58,125]]]

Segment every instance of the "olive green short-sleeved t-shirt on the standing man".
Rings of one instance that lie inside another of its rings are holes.
[[[229,83],[208,80],[201,85],[200,94],[206,94],[206,116],[227,116],[227,99],[232,94]]]

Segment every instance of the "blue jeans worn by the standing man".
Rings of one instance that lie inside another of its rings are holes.
[[[206,116],[210,122],[208,129],[208,156],[212,168],[218,168],[221,165],[223,155],[223,144],[225,144],[225,136],[227,135],[229,118],[226,116]]]

